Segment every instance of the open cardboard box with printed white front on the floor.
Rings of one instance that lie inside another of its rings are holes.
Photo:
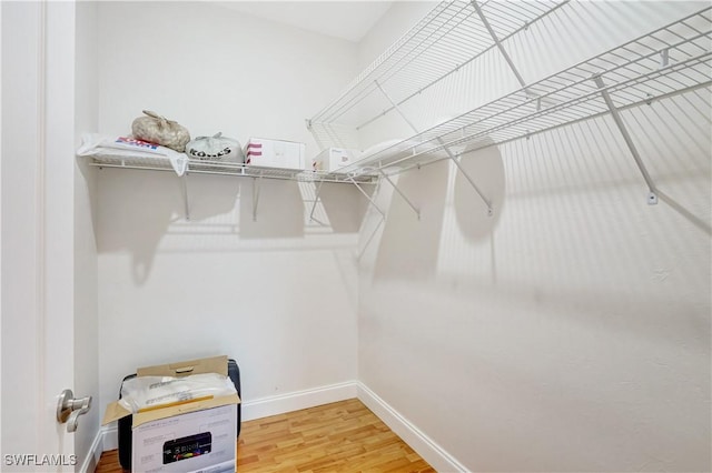
[[[139,368],[138,376],[219,373],[227,376],[227,356]],[[139,472],[235,472],[237,394],[176,403],[134,414],[131,466]],[[119,402],[107,406],[102,425],[129,411]]]

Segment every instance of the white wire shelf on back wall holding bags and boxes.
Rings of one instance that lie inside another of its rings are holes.
[[[138,169],[146,171],[175,172],[168,159],[131,158],[131,157],[88,157],[89,165],[97,168]],[[301,182],[347,182],[374,183],[376,177],[359,172],[358,175],[333,174],[323,171],[300,169],[264,168],[237,162],[188,160],[186,174],[216,174],[240,178],[281,179]]]

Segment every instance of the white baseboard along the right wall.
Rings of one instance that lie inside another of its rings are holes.
[[[411,445],[438,472],[468,472],[462,463],[435,443],[429,436],[413,425],[365,384],[357,382],[357,396],[378,419],[390,427],[405,443]]]

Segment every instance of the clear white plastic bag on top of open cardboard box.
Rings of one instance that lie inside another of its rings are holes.
[[[235,394],[233,381],[218,373],[191,374],[189,376],[137,376],[121,385],[121,404],[136,414],[141,410],[159,407],[178,402]]]

